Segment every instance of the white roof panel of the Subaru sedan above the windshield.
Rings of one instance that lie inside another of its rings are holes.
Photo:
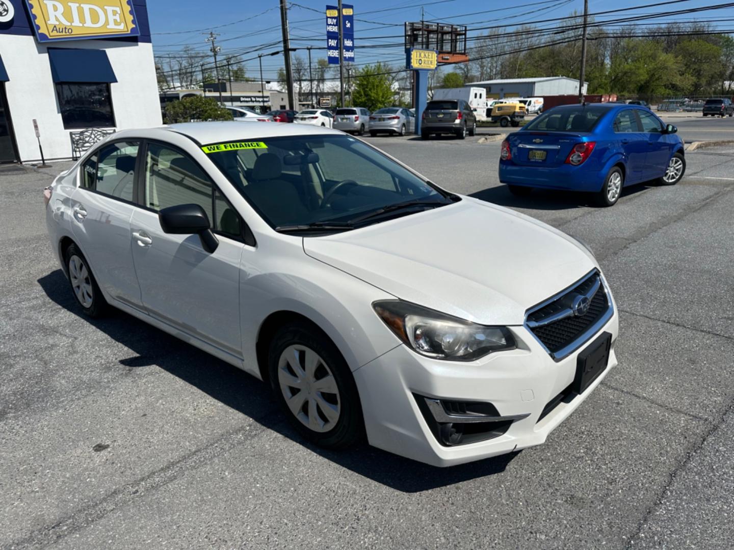
[[[275,122],[245,123],[235,120],[225,120],[222,122],[182,122],[181,124],[164,126],[161,129],[189,136],[200,144],[281,136],[308,136],[313,134],[344,135],[340,131],[321,126],[277,124]]]

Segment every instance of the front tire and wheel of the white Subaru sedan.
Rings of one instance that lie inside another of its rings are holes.
[[[355,379],[319,329],[300,321],[283,326],[270,344],[268,367],[276,400],[305,439],[346,449],[363,438]]]

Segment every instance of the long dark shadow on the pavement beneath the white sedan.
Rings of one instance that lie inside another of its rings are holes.
[[[79,304],[71,293],[68,280],[60,269],[38,279],[38,284],[48,298],[60,307],[73,312],[81,320],[90,323],[137,354],[120,359],[121,369],[160,367],[269,430],[280,433],[327,460],[396,491],[406,493],[428,491],[503,472],[507,464],[519,454],[515,452],[440,469],[401,458],[369,447],[367,444],[360,445],[354,450],[340,452],[321,449],[302,439],[296,430],[291,428],[285,414],[280,411],[272,398],[269,386],[251,375],[164,331],[141,323],[120,310],[112,309],[105,318],[88,318],[82,314]],[[120,407],[124,406],[126,406],[124,403],[120,403]]]

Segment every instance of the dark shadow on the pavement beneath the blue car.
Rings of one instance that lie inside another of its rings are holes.
[[[655,185],[648,182],[622,188],[622,196],[619,197],[619,200],[646,191],[651,187],[655,187]],[[581,191],[533,189],[530,194],[518,197],[510,193],[507,186],[500,185],[476,191],[469,196],[492,202],[495,205],[528,208],[530,210],[570,210],[584,206],[603,208],[596,204],[594,194]]]

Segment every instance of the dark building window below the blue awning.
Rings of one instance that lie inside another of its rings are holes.
[[[114,128],[109,84],[59,82],[56,85],[64,128]]]

